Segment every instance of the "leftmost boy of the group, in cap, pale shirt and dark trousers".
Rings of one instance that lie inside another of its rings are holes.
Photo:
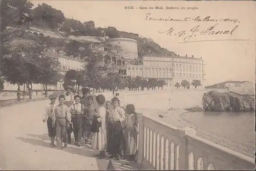
[[[51,102],[50,102],[50,104],[48,104],[46,106],[45,113],[42,118],[43,122],[47,121],[48,135],[49,135],[49,137],[51,137],[51,143],[50,143],[51,146],[55,146],[54,139],[56,136],[56,129],[55,129],[55,125],[52,124],[52,117],[54,115],[54,109],[56,107],[55,101],[56,101],[57,97],[58,97],[57,94],[49,95],[49,99],[51,100]]]

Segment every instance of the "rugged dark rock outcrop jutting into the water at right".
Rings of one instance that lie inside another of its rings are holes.
[[[203,109],[205,111],[236,111],[249,112],[255,109],[254,95],[241,95],[238,93],[220,93],[210,91],[204,93],[202,98]]]

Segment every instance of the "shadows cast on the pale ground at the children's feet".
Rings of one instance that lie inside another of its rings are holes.
[[[42,147],[47,147],[47,148],[56,148],[57,147],[52,147],[50,146],[50,138],[47,134],[42,134],[42,135],[37,135],[37,134],[27,134],[28,137],[16,137],[16,139],[19,139],[23,142],[30,143],[31,145],[34,146],[42,146]],[[32,137],[32,138],[30,138]],[[74,143],[74,139],[72,138],[72,142]],[[82,145],[81,147],[77,147],[73,144],[68,144],[66,148],[61,149],[64,152],[70,153],[70,154],[75,154],[75,155],[80,155],[84,157],[93,157],[95,158],[96,152],[94,152],[89,146],[87,145]],[[106,163],[104,160],[99,160],[96,158],[97,161],[97,166],[99,170],[106,170]]]

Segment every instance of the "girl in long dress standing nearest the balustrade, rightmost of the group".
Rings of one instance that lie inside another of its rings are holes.
[[[135,107],[133,104],[126,105],[126,129],[124,130],[124,138],[126,142],[125,155],[129,157],[130,160],[134,160],[137,153],[137,113],[135,112]]]

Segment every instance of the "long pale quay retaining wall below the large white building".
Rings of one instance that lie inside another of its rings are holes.
[[[191,108],[202,106],[204,93],[210,90],[178,90],[178,91],[143,91],[121,93],[119,99],[125,103],[132,103],[136,108]],[[218,89],[219,92],[228,92],[228,89]]]

